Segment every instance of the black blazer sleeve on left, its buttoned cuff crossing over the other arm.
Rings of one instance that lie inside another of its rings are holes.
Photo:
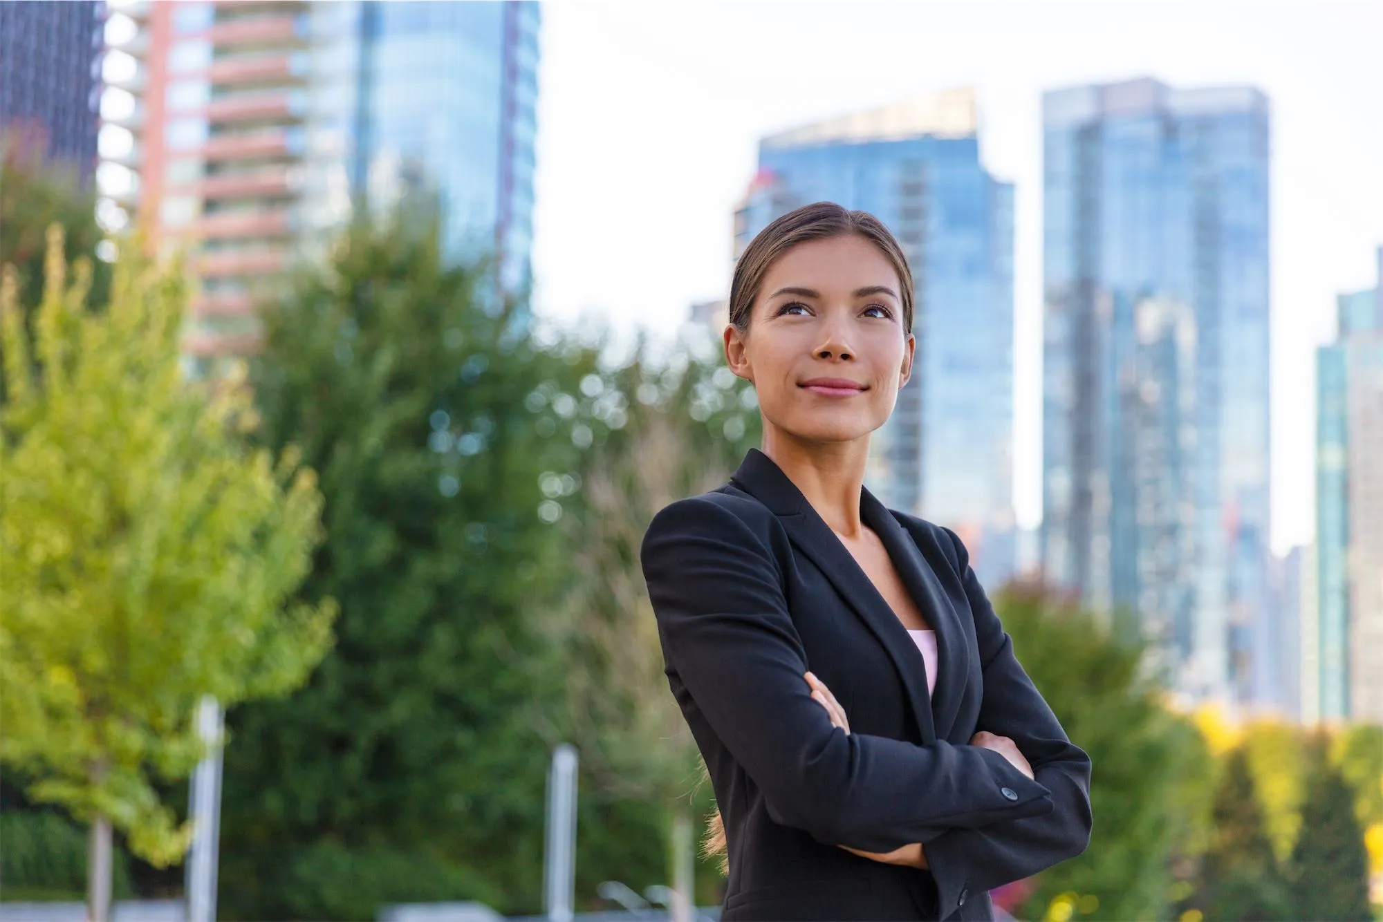
[[[1051,811],[1051,795],[997,752],[917,746],[831,726],[769,547],[732,510],[693,496],[660,511],[640,563],[664,657],[762,791],[769,817],[827,845],[889,852]]]

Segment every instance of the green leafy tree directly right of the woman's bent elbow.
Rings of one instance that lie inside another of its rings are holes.
[[[1041,918],[1075,893],[1098,905],[1098,918],[1166,918],[1167,858],[1195,835],[1207,784],[1199,734],[1164,706],[1140,644],[1037,587],[1011,586],[996,607],[1023,668],[1094,764],[1090,847],[1039,876],[1026,914]]]

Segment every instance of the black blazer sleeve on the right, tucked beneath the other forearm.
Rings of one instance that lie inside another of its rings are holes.
[[[1072,745],[1057,715],[1014,657],[1014,644],[969,567],[965,546],[946,529],[958,554],[958,572],[975,615],[983,664],[985,699],[979,730],[1010,737],[1051,792],[1044,816],[1007,818],[983,828],[956,828],[925,843],[946,918],[968,890],[1021,881],[1076,857],[1090,845],[1090,756]]]

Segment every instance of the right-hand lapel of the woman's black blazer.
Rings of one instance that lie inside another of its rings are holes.
[[[869,489],[860,498],[860,517],[884,542],[899,576],[922,617],[936,632],[936,691],[931,697],[932,724],[946,740],[956,722],[969,673],[964,632],[936,572],[922,557],[911,532]],[[896,618],[895,618],[896,621]]]

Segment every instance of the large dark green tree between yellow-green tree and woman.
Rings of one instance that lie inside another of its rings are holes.
[[[596,355],[539,347],[408,211],[351,228],[263,318],[260,437],[301,445],[325,496],[300,596],[340,618],[304,688],[227,715],[227,912],[373,918],[397,887],[357,869],[382,861],[434,868],[438,899],[535,910],[567,735],[559,523],[613,413],[581,387]]]

